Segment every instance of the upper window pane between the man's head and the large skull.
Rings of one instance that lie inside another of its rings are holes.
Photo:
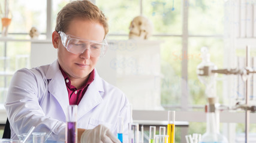
[[[109,19],[109,33],[128,34],[132,19],[140,15],[138,0],[97,0],[96,5]],[[128,38],[127,38],[128,39]]]

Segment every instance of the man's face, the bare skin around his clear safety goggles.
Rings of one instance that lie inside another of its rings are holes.
[[[105,32],[100,23],[75,18],[71,21],[66,35],[73,35],[92,41],[103,41]],[[58,61],[70,79],[87,79],[94,69],[99,57],[92,57],[86,49],[82,54],[68,52],[62,45],[61,38],[58,44]]]

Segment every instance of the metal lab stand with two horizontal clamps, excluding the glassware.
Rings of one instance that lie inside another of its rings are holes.
[[[204,48],[201,49],[201,51]],[[205,55],[202,53],[202,56]],[[203,64],[197,66],[197,74],[198,79],[207,79],[211,77],[213,74],[219,73],[219,74],[235,74],[242,77],[243,81],[245,82],[245,104],[243,105],[236,105],[235,107],[227,108],[228,110],[234,110],[234,109],[243,109],[245,110],[245,142],[249,142],[248,133],[249,133],[249,113],[255,112],[256,107],[254,105],[249,104],[249,80],[248,78],[251,76],[251,74],[256,73],[255,70],[252,70],[250,65],[250,49],[248,46],[246,46],[246,67],[243,68],[236,68],[236,69],[215,69],[212,68],[212,66]],[[203,138],[203,136],[202,136]]]

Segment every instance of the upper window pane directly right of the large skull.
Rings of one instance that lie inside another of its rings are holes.
[[[155,34],[182,33],[182,1],[146,0],[143,1],[143,15],[154,25]]]

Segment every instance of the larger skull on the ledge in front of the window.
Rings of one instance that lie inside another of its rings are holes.
[[[146,17],[135,17],[129,26],[129,39],[148,39],[152,35],[153,24]]]

